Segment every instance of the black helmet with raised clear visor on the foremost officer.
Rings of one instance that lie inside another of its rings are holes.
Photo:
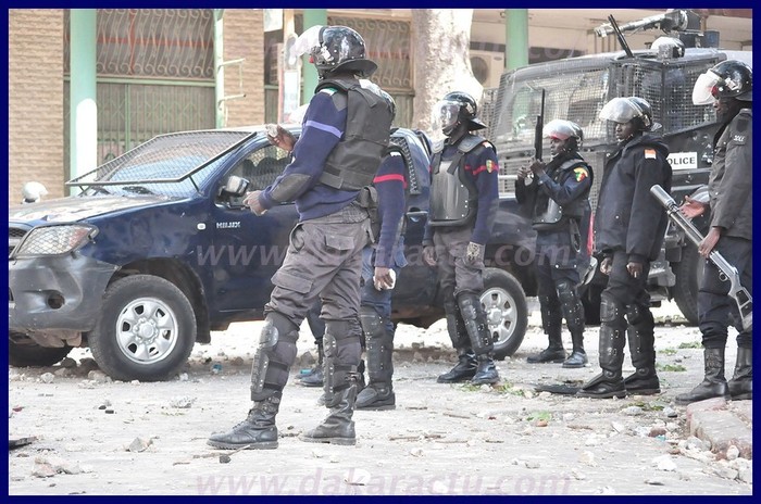
[[[295,55],[310,55],[320,78],[337,71],[353,72],[369,78],[377,65],[365,59],[364,39],[348,26],[312,26],[291,48]]]

